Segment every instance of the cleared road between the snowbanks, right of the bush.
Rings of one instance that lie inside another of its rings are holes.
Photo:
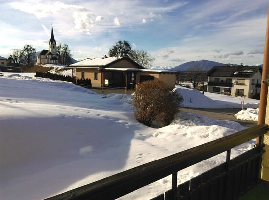
[[[246,121],[239,120],[235,118],[235,113],[238,113],[241,109],[239,108],[229,108],[229,109],[205,109],[205,108],[180,108],[181,111],[189,112],[189,113],[197,113],[199,115],[208,116],[211,118],[216,118],[220,120],[229,120],[236,121],[240,123],[242,126],[251,127],[257,125],[257,122],[254,121]]]

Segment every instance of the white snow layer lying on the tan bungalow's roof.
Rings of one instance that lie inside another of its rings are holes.
[[[116,57],[108,57],[108,58],[86,58],[80,62],[71,64],[72,66],[104,66],[115,60],[118,60]]]

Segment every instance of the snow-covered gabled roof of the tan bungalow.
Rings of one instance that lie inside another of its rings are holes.
[[[121,60],[128,60],[132,62],[134,65],[137,66],[139,69],[144,69],[143,66],[139,65],[136,63],[134,60],[128,57],[121,57],[121,58],[116,58],[116,57],[108,57],[108,58],[86,58],[85,60],[82,60],[80,62],[74,63],[69,65],[69,68],[83,68],[83,67],[91,67],[91,68],[107,68],[110,65],[119,62]]]

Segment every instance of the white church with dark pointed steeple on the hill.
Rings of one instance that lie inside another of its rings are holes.
[[[51,36],[49,40],[49,50],[43,49],[38,55],[37,55],[37,60],[36,64],[58,64],[58,58],[56,54],[56,41],[54,39],[53,35],[53,28],[51,25]]]

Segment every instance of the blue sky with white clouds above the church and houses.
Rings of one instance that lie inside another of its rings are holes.
[[[268,0],[0,0],[0,55],[57,43],[73,57],[101,57],[118,40],[144,49],[154,66],[213,60],[262,64]]]

